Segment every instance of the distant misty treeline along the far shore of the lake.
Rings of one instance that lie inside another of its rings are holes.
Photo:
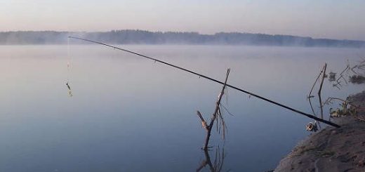
[[[112,30],[110,32],[55,32],[18,31],[0,32],[0,44],[67,44],[67,37],[82,37],[107,44],[217,44],[255,46],[330,46],[365,47],[365,41],[312,39],[290,35],[249,34],[219,32],[199,34],[198,32],[149,32],[143,30]],[[72,44],[85,44],[72,40]]]

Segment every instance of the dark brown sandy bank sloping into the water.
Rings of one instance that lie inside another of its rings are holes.
[[[354,105],[365,107],[365,91],[352,95]],[[341,128],[328,126],[299,143],[281,159],[274,171],[365,172],[365,112],[334,119]]]

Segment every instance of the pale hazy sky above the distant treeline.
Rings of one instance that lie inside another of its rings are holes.
[[[365,40],[362,0],[0,0],[0,31],[252,32]]]

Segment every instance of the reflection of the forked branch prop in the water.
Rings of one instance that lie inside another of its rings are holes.
[[[211,172],[218,172],[218,171],[223,171],[223,164],[225,161],[225,148],[220,147],[218,145],[218,147],[215,148],[215,151],[212,150],[203,150],[204,152],[204,156],[205,159],[204,161],[201,161],[200,166],[197,168],[197,172],[203,170],[204,168],[208,168],[208,171]],[[214,161],[211,161],[211,156],[209,154],[209,152],[212,152],[214,155]],[[230,170],[228,170],[230,171]]]

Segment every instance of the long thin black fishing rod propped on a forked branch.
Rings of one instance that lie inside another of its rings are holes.
[[[222,85],[224,85],[224,84],[225,84],[225,83],[223,83],[222,81],[218,81],[217,79],[213,79],[213,78],[211,78],[211,77],[207,77],[207,76],[205,76],[204,74],[199,74],[199,73],[194,72],[194,71],[192,71],[192,70],[187,70],[187,69],[185,69],[185,68],[183,68],[183,67],[178,67],[177,65],[173,65],[173,64],[171,64],[171,63],[164,62],[164,61],[162,61],[162,60],[158,60],[157,58],[151,58],[151,57],[148,57],[147,55],[142,55],[142,54],[140,54],[140,53],[135,53],[135,52],[133,52],[133,51],[129,51],[129,50],[124,49],[124,48],[119,48],[119,47],[117,47],[117,46],[111,46],[111,45],[109,45],[109,44],[104,44],[104,43],[102,43],[102,42],[93,41],[93,40],[90,40],[90,39],[82,39],[82,38],[78,38],[78,37],[69,37],[69,38],[72,38],[72,39],[79,39],[79,40],[82,40],[82,41],[88,41],[88,42],[92,42],[92,43],[95,43],[95,44],[100,44],[100,45],[103,45],[103,46],[109,46],[109,47],[111,47],[111,48],[115,48],[115,49],[118,49],[118,50],[120,50],[120,51],[125,51],[125,52],[127,52],[127,53],[131,53],[131,54],[134,54],[134,55],[138,55],[138,56],[140,56],[140,57],[142,57],[142,58],[147,58],[147,59],[150,59],[150,60],[154,60],[155,62],[161,62],[162,64],[165,64],[165,65],[168,65],[168,66],[174,67],[174,68],[176,68],[176,69],[178,69],[178,70],[183,70],[183,71],[188,72],[188,73],[190,73],[190,74],[195,74],[195,75],[197,75],[197,76],[199,76],[199,77],[203,77],[203,78],[205,78],[205,79],[208,79],[208,80],[214,81],[215,83],[218,83],[218,84],[222,84]],[[283,105],[283,104],[281,104],[281,103],[279,103],[279,102],[274,102],[273,100],[270,100],[270,99],[268,99],[268,98],[264,98],[263,96],[257,95],[257,94],[255,94],[255,93],[251,93],[251,92],[249,92],[249,91],[245,91],[244,89],[238,88],[238,87],[236,87],[236,86],[231,86],[230,84],[226,84],[226,86],[227,86],[227,87],[230,87],[230,88],[233,88],[234,90],[241,91],[242,93],[246,93],[246,94],[248,94],[248,95],[251,95],[251,96],[253,96],[253,97],[255,97],[255,98],[259,98],[259,99],[264,100],[264,101],[266,101],[266,102],[271,102],[271,103],[272,103],[272,104],[274,104],[274,105],[278,105],[278,106],[280,106],[280,107],[284,107],[284,108],[285,108],[285,109],[287,109],[287,110],[291,110],[291,111],[296,112],[296,113],[298,113],[298,114],[303,114],[304,116],[309,117],[309,118],[311,118],[311,119],[315,119],[315,120],[317,120],[317,121],[321,121],[321,122],[323,122],[323,123],[325,123],[325,124],[328,124],[328,125],[330,125],[330,126],[335,126],[335,127],[337,127],[337,128],[340,128],[340,126],[339,126],[338,124],[334,124],[334,123],[333,123],[333,122],[331,122],[331,121],[326,121],[326,120],[321,119],[321,118],[319,118],[319,117],[315,117],[315,116],[314,116],[314,115],[312,115],[312,114],[307,114],[307,113],[305,113],[305,112],[301,112],[300,110],[293,109],[292,107],[288,107],[288,106]]]

